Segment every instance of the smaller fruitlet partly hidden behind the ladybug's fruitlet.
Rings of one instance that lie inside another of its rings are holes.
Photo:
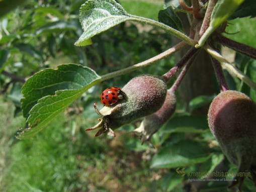
[[[141,143],[150,141],[151,136],[174,114],[176,109],[176,96],[167,91],[162,107],[152,115],[143,118],[140,126],[133,132],[141,137]]]

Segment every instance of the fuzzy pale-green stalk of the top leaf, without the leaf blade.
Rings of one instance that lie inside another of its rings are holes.
[[[189,38],[187,35],[181,33],[180,31],[171,28],[163,23],[151,20],[151,19],[147,19],[144,17],[139,17],[139,16],[134,16],[134,15],[129,15],[131,18],[129,20],[131,21],[136,21],[136,22],[140,22],[140,23],[145,23],[147,25],[152,25],[158,28],[163,29],[164,31],[166,31],[169,34],[175,35],[176,37],[178,37],[179,39],[185,41],[187,44],[191,45],[191,46],[195,46],[197,44],[196,41],[194,41],[193,39]]]

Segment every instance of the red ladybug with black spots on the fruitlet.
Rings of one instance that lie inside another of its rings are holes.
[[[121,88],[112,86],[102,91],[101,103],[103,105],[110,106],[117,103],[118,100],[124,99],[124,97],[125,93],[121,90]]]

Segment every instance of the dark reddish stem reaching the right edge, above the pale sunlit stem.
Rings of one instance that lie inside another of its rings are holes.
[[[234,49],[235,51],[237,51],[241,54],[244,54],[252,59],[256,59],[256,49],[249,45],[245,45],[243,43],[233,41],[233,40],[226,38],[222,35],[216,36],[215,40],[217,42],[221,43],[222,45],[225,45],[231,49]]]

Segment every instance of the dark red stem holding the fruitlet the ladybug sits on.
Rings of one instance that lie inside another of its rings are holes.
[[[190,50],[181,58],[181,60],[173,67],[171,68],[167,73],[163,74],[162,77],[165,82],[168,82],[176,73],[179,71],[187,62],[188,60],[195,55],[195,53],[199,49],[192,47]]]

